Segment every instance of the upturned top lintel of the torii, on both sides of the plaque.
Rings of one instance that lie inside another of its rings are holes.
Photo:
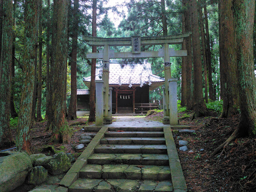
[[[181,34],[168,35],[168,36],[141,36],[140,45],[156,45],[156,44],[180,44],[183,38],[188,37],[190,32],[185,32]],[[91,46],[130,46],[131,37],[113,37],[104,38],[96,36],[83,36],[86,42],[89,42]]]

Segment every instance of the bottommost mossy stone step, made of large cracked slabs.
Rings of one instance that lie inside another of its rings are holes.
[[[130,180],[130,179],[88,179],[79,178],[69,188],[69,192],[171,192],[170,181]]]

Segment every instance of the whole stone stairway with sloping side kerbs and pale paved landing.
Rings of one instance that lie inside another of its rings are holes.
[[[134,116],[103,125],[60,185],[71,192],[186,191],[170,126]]]

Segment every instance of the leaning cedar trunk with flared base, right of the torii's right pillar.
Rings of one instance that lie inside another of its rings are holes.
[[[193,49],[193,117],[204,116],[207,112],[202,96],[202,64],[200,54],[197,1],[190,0],[190,21]]]

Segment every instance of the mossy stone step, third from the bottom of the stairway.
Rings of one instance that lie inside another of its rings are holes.
[[[94,153],[88,158],[91,164],[142,164],[168,165],[167,154],[122,154],[122,153]]]

